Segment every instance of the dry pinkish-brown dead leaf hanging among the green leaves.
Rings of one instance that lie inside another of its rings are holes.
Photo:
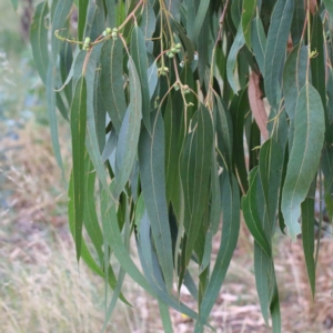
[[[265,140],[268,140],[269,117],[264,105],[264,101],[262,99],[262,91],[260,89],[260,77],[255,72],[252,72],[250,75],[248,93],[249,93],[250,107],[254,120],[260,129],[261,134]]]

